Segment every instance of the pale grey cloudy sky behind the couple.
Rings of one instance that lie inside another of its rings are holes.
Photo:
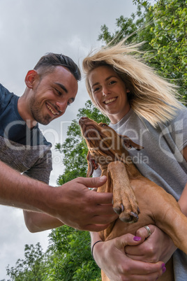
[[[0,83],[21,96],[27,71],[46,52],[63,53],[81,67],[82,59],[102,44],[98,41],[100,27],[106,24],[109,31],[114,31],[116,19],[121,15],[130,17],[135,10],[131,0],[0,0]],[[52,143],[52,186],[63,173],[63,156],[54,150],[54,144],[65,141],[68,125],[88,99],[83,78],[75,102],[65,115],[40,126]],[[29,233],[22,210],[6,206],[0,206],[0,222],[0,280],[8,280],[6,266],[15,266],[17,259],[24,259],[26,244],[40,242],[45,251],[50,231]]]

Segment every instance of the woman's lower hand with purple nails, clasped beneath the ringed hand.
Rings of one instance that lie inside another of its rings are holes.
[[[127,257],[125,247],[138,247],[141,240],[132,234],[96,243],[93,257],[110,280],[146,281],[156,280],[165,271],[162,261],[145,263]]]

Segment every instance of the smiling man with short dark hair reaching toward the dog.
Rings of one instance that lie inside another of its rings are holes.
[[[65,113],[75,100],[80,78],[72,59],[49,53],[28,71],[20,98],[0,85],[0,203],[24,209],[31,232],[63,224],[100,231],[116,218],[112,194],[87,188],[103,185],[105,177],[77,178],[61,187],[47,185],[51,145],[38,122],[49,124]]]

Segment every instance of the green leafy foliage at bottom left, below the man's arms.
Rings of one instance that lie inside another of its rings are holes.
[[[89,232],[61,226],[52,230],[49,238],[45,253],[40,243],[35,247],[25,245],[24,259],[18,259],[15,267],[7,268],[11,280],[100,280],[100,268],[91,257]]]

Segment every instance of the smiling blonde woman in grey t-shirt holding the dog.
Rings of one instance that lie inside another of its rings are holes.
[[[121,41],[88,55],[83,61],[87,90],[110,127],[144,146],[140,152],[129,150],[139,171],[172,194],[187,215],[187,109],[175,98],[176,87],[137,58],[137,47]],[[186,254],[158,227],[149,229],[147,240],[126,246],[125,252],[126,236],[96,243],[100,237],[91,233],[93,257],[111,280],[156,280],[140,261],[166,263],[171,256],[174,280],[187,280]],[[147,237],[147,229],[136,235]]]

